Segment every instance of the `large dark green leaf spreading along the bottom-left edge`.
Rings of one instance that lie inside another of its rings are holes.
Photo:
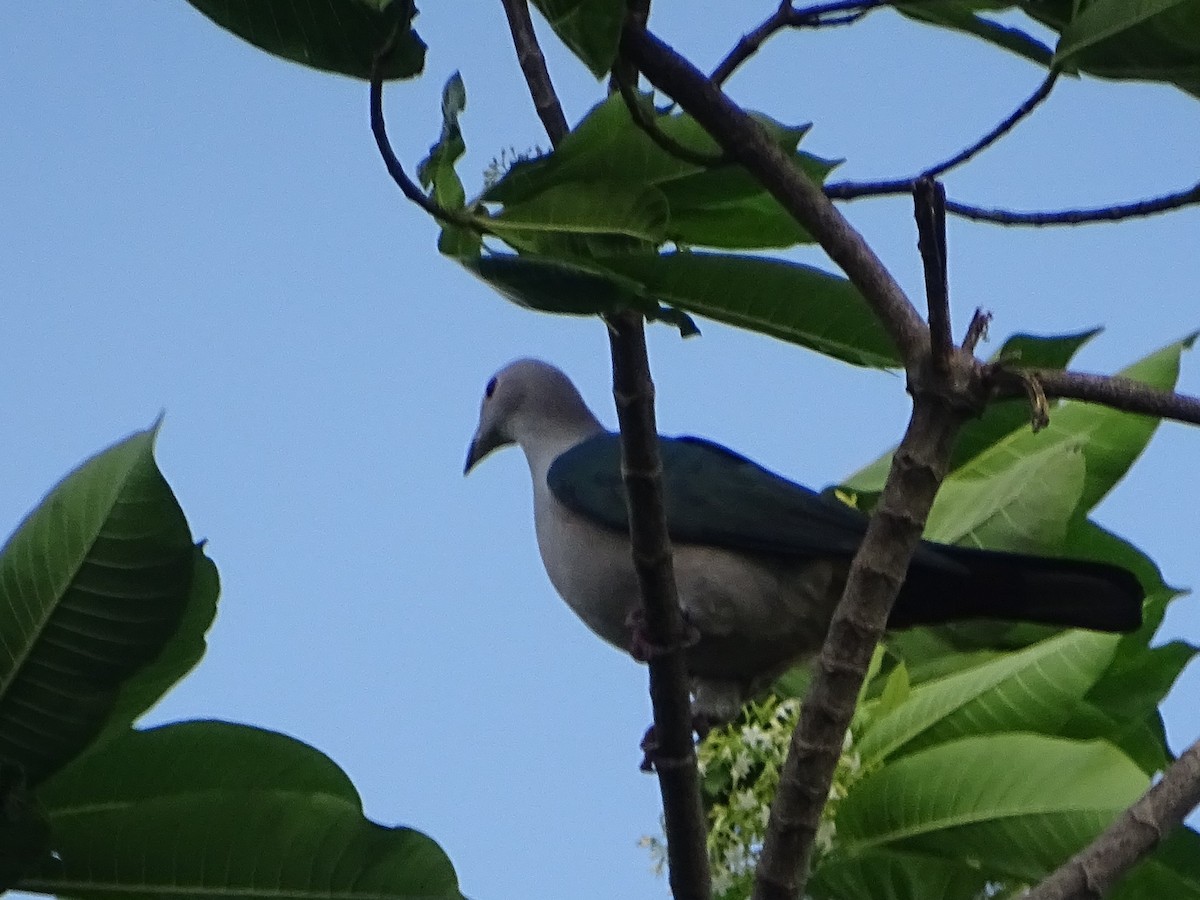
[[[24,890],[77,898],[457,900],[428,838],[362,816],[310,746],[224,722],[130,732],[48,782],[56,858]]]

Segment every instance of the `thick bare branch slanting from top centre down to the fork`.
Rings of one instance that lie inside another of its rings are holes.
[[[841,266],[875,310],[906,367],[929,348],[929,330],[904,290],[850,222],[767,132],[691,62],[654,35],[625,26],[622,54],[690,113],[725,152],[750,170]]]

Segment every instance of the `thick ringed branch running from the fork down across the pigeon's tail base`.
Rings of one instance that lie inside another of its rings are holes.
[[[970,354],[955,353],[946,378],[930,366],[916,379],[910,376],[912,419],[851,564],[816,677],[800,708],[758,858],[754,900],[803,895],[821,810],[871,654],[946,476],[959,427],[982,402],[982,392],[978,400],[965,402],[976,372]]]

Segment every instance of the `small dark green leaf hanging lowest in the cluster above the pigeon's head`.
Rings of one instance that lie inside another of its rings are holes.
[[[688,316],[659,306],[636,282],[583,262],[500,253],[458,262],[503,296],[529,310],[569,316],[636,310],[652,322],[674,325],[685,337],[700,332]]]

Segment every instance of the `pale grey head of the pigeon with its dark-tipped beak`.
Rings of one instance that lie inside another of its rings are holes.
[[[535,443],[553,439],[565,443],[558,448],[565,450],[600,427],[570,378],[541,360],[515,360],[484,389],[463,474],[502,446],[521,444],[529,452]]]

